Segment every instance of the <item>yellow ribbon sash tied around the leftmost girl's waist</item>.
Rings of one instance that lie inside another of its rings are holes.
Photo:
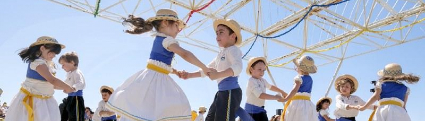
[[[42,96],[42,95],[34,95],[29,93],[27,90],[21,87],[21,92],[24,93],[26,96],[24,97],[22,103],[27,109],[28,112],[28,121],[34,121],[34,110],[32,109],[33,104],[33,97],[40,98],[40,99],[48,99],[50,96]],[[28,103],[27,103],[28,101]]]

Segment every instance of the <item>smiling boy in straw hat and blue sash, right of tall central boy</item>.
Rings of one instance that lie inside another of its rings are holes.
[[[246,86],[246,104],[245,110],[255,121],[268,121],[267,112],[264,110],[265,100],[280,100],[280,95],[266,94],[266,89],[281,93],[283,96],[287,94],[269,84],[263,79],[264,71],[266,70],[266,59],[264,57],[253,57],[249,59],[246,67],[246,74],[251,75],[248,85]]]

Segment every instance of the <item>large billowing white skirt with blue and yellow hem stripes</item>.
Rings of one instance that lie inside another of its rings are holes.
[[[168,65],[149,60],[166,70]],[[121,115],[120,121],[190,121],[191,110],[183,90],[174,80],[155,70],[137,72],[112,93],[106,107]]]

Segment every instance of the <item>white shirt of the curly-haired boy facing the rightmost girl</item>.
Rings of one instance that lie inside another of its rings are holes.
[[[356,117],[359,114],[358,110],[355,109],[351,109],[351,110],[347,110],[348,105],[364,105],[366,104],[365,101],[363,101],[362,98],[358,97],[358,96],[354,96],[354,95],[350,95],[348,97],[346,96],[342,96],[342,95],[337,95],[337,97],[335,97],[335,104],[337,105],[335,111],[334,111],[334,115],[335,117],[338,119],[340,117]],[[370,105],[368,107],[368,109],[373,110],[374,106]]]

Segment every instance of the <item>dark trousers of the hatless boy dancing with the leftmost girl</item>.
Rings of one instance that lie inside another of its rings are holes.
[[[84,98],[82,96],[68,96],[65,100],[65,109],[61,114],[61,121],[84,121]]]

